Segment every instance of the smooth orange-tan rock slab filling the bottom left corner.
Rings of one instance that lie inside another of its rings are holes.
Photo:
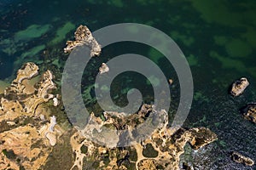
[[[0,169],[38,169],[49,156],[49,148],[44,146],[37,127],[32,125],[0,133],[0,139]]]

